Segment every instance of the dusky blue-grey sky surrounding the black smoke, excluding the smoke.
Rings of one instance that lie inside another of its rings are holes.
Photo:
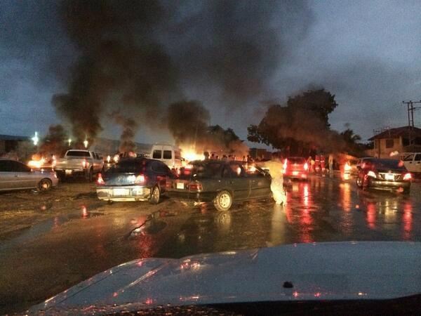
[[[163,4],[171,7],[171,1]],[[201,17],[197,11],[194,1],[185,2],[172,22]],[[201,100],[210,110],[210,124],[232,127],[244,139],[247,126],[260,121],[268,104],[283,103],[295,93],[323,87],[335,94],[338,103],[330,115],[333,129],[342,131],[349,123],[366,139],[372,136],[373,129],[407,124],[402,100],[421,99],[420,12],[420,1],[303,1],[300,6],[276,5],[273,11],[257,13],[257,19],[265,20],[273,32],[265,37],[268,33],[260,29],[261,34],[257,34],[265,41],[261,46],[257,42],[259,52],[268,52],[260,56],[258,75],[253,77],[251,72],[256,69],[250,70],[250,82],[262,80],[260,88],[242,100],[238,96],[244,91],[236,91],[235,98],[228,97],[218,80],[210,79],[208,84],[208,76],[215,73],[202,72],[201,67],[188,72],[183,67],[184,77],[178,85],[184,98]],[[61,123],[51,100],[56,93],[67,93],[69,73],[81,53],[60,16],[59,1],[0,1],[0,133],[42,134],[50,124]],[[171,52],[178,65],[186,65],[188,50],[183,48],[196,47],[192,42],[200,44],[206,37],[205,24],[198,18],[192,32],[184,29],[183,34],[175,35],[178,40],[172,40],[166,23],[160,22],[161,33],[156,32],[156,41]],[[260,27],[259,23],[254,25]],[[238,26],[244,31],[239,37],[253,33],[247,29],[247,19]],[[219,32],[224,32],[223,27]],[[276,45],[271,45],[272,38]],[[206,46],[210,42],[203,43]],[[211,44],[218,51],[218,43]],[[267,76],[261,73],[263,70]],[[190,80],[192,72],[194,79]],[[248,66],[244,65],[242,73],[247,72]],[[420,113],[415,114],[418,126]],[[109,123],[105,115],[101,119],[100,135],[118,139],[121,128]],[[171,136],[164,129],[143,128],[142,124],[136,136],[144,143],[168,138]]]

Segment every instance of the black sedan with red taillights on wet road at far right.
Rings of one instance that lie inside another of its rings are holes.
[[[356,185],[409,193],[411,179],[411,174],[400,160],[371,158],[365,159],[358,167]]]

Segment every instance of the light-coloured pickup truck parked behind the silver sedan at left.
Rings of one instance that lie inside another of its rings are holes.
[[[93,175],[104,168],[104,160],[97,152],[67,150],[65,157],[55,160],[54,171],[62,180],[67,177],[84,176],[92,181]]]

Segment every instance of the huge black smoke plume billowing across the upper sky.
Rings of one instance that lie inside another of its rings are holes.
[[[272,22],[291,13],[299,29],[309,25],[302,1],[65,1],[62,22],[80,58],[53,104],[78,140],[93,140],[116,104],[156,127],[186,84],[217,88],[229,105],[250,101],[267,91],[290,44],[281,35],[297,26]]]

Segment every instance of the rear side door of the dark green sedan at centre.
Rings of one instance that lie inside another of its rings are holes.
[[[226,164],[222,172],[225,187],[234,193],[234,200],[248,199],[250,195],[250,178],[241,164],[232,162]]]

